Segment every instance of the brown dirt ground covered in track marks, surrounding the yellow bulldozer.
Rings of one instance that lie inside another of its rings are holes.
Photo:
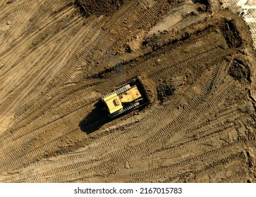
[[[0,182],[256,182],[255,50],[219,0],[0,7]],[[107,120],[136,76],[152,102]]]

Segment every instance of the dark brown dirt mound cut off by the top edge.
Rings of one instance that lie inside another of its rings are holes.
[[[87,15],[111,15],[130,0],[76,0]]]

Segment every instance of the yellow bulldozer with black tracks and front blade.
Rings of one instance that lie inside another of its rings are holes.
[[[109,117],[117,117],[146,106],[150,98],[139,77],[102,97]]]

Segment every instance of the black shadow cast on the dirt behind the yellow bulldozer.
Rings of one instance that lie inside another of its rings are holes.
[[[107,122],[110,122],[107,110],[103,110],[104,103],[98,101],[95,108],[83,120],[79,122],[80,129],[86,134],[97,131]]]

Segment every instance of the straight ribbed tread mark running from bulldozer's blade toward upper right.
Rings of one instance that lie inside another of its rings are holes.
[[[198,54],[196,56],[188,58],[185,61],[181,61],[180,63],[176,63],[174,65],[171,65],[171,66],[167,67],[167,68],[164,68],[162,70],[154,72],[153,74],[150,75],[150,79],[151,80],[155,80],[158,77],[160,77],[161,75],[164,75],[164,74],[166,74],[168,72],[171,72],[171,70],[173,70],[174,68],[178,68],[178,67],[187,65],[188,63],[190,63],[192,61],[200,60],[202,58],[205,58],[205,57],[209,56],[210,54],[219,51],[220,49],[221,49],[221,46],[214,47],[213,49],[209,49],[208,51],[202,52],[202,53],[200,53],[200,54]]]

